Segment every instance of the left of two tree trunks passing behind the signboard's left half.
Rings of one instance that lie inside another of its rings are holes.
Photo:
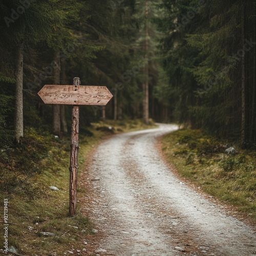
[[[60,55],[59,51],[54,53],[55,68],[53,70],[54,84],[60,84]],[[60,122],[60,105],[53,105],[53,133],[60,136],[61,122]]]

